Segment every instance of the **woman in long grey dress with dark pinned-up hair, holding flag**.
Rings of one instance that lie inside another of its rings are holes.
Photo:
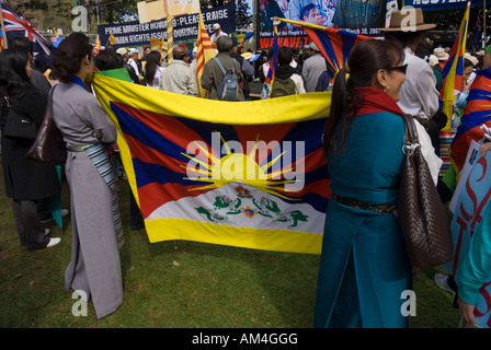
[[[117,310],[124,294],[117,235],[121,222],[115,220],[114,206],[117,197],[104,147],[116,141],[116,129],[84,88],[93,70],[88,38],[81,34],[65,38],[53,66],[60,81],[54,88],[53,114],[67,142],[65,166],[71,192],[72,250],[65,289],[92,299],[101,318]],[[101,164],[106,166],[101,170]]]

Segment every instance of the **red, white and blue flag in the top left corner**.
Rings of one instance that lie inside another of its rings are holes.
[[[28,24],[22,16],[13,12],[3,0],[0,0],[7,40],[13,37],[25,36],[33,43],[34,59],[42,61],[49,56],[49,43],[43,35]]]

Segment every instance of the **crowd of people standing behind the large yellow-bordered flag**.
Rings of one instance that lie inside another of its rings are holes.
[[[222,32],[218,23],[214,25],[214,32],[210,40],[214,43],[216,58],[225,70],[231,71],[232,61],[236,61],[233,71],[240,88],[237,101],[260,98],[260,91],[251,95],[251,85],[264,83],[272,61],[273,48],[260,51],[259,58],[250,62],[244,58],[247,57],[244,47],[236,36],[229,36]],[[252,56],[251,50],[248,52]],[[172,65],[169,65],[169,49],[167,45],[161,44],[145,47],[144,55],[140,55],[135,48],[121,47],[116,49],[112,45],[101,51],[94,51],[98,69],[109,69],[105,60],[109,59],[109,56],[115,56],[111,61],[117,58],[122,59],[121,65],[127,68],[134,83],[190,96],[199,95],[198,85],[201,84],[203,89],[207,90],[206,98],[218,100],[217,90],[224,74],[219,66],[212,61],[205,66],[202,80],[198,82],[196,80],[196,47],[190,51],[184,45],[175,45],[172,49]],[[101,62],[98,63],[98,61]],[[327,61],[313,43],[306,45],[302,50],[281,47],[276,78],[276,88],[284,91],[282,96],[332,89]],[[288,79],[293,80],[290,84],[294,89],[284,89],[284,81]],[[274,88],[271,86],[271,89]],[[276,97],[275,95],[269,96]]]

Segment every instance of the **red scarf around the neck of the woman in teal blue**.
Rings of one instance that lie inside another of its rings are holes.
[[[359,92],[361,94],[359,106],[356,113],[358,116],[380,112],[390,112],[400,116],[404,115],[396,101],[379,89],[361,86],[356,88],[356,92]]]

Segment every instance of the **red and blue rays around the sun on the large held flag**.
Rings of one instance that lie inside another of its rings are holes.
[[[266,143],[278,141],[278,147],[287,141],[292,144],[290,152],[285,152],[283,148],[278,153],[272,148],[267,153],[255,155],[254,162],[259,168],[267,170],[266,175],[277,171],[272,165],[275,162],[281,164],[282,171],[298,170],[300,165],[304,168],[304,186],[298,191],[285,191],[285,178],[270,177],[264,188],[260,189],[286,202],[308,203],[319,212],[327,209],[330,180],[321,144],[323,118],[272,125],[228,125],[163,115],[116,102],[111,102],[111,109],[130,149],[144,218],[168,202],[197,197],[224,186],[222,182],[214,178],[190,178],[190,156],[186,152],[191,143],[199,142],[208,150],[197,156],[206,166],[213,166],[216,160],[225,159],[227,144],[240,144],[247,153],[248,142],[256,142],[258,139]],[[217,132],[221,140],[218,143],[214,139]],[[298,147],[302,148],[300,159],[296,159]],[[236,147],[232,149],[237,152]]]

